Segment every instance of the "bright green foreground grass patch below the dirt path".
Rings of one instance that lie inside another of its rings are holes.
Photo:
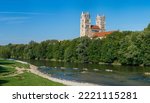
[[[5,81],[1,86],[63,86],[63,84],[50,81],[29,72],[15,77],[1,78],[1,80]]]

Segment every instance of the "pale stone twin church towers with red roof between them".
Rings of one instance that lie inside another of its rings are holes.
[[[94,37],[96,33],[105,32],[105,16],[96,17],[96,25],[91,25],[90,14],[82,12],[80,19],[80,37]]]

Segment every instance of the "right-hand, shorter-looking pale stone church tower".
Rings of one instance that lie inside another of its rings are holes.
[[[100,32],[105,32],[106,29],[105,29],[105,16],[99,16],[97,15],[96,17],[96,25],[99,26],[100,28]]]

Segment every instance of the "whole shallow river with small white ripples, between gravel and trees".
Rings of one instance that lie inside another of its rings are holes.
[[[59,79],[107,86],[150,86],[150,67],[26,61]]]

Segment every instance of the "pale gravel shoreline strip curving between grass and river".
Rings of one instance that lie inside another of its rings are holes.
[[[15,60],[15,61],[19,62],[19,63],[22,63],[22,64],[29,64],[30,68],[28,70],[29,70],[29,72],[31,72],[33,74],[36,74],[36,75],[38,75],[42,78],[45,78],[45,79],[48,79],[48,80],[51,80],[51,81],[54,81],[54,82],[62,83],[62,84],[67,85],[67,86],[100,86],[98,84],[93,84],[93,83],[82,83],[82,82],[76,82],[76,81],[69,81],[69,80],[54,78],[54,77],[51,77],[47,74],[44,74],[44,73],[40,72],[38,70],[38,67],[35,66],[35,65],[32,65],[30,63],[20,61],[20,60]]]

